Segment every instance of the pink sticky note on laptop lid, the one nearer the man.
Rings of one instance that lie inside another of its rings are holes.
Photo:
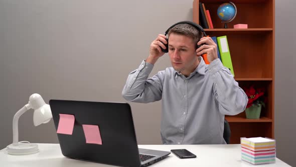
[[[102,145],[100,129],[98,125],[82,125],[86,143]]]

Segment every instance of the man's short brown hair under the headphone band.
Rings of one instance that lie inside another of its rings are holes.
[[[196,29],[194,26],[190,24],[178,24],[169,31],[169,37],[170,35],[178,34],[178,35],[185,35],[189,38],[193,39],[193,42],[196,44],[202,37],[203,33],[200,32],[198,29]]]

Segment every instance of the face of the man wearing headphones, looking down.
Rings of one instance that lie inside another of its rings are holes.
[[[185,35],[170,34],[169,36],[169,56],[175,70],[189,75],[198,65],[196,55],[196,43],[193,39]]]

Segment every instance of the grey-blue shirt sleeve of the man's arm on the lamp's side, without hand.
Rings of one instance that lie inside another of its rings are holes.
[[[152,68],[153,64],[142,61],[140,66],[128,75],[126,84],[122,90],[122,97],[125,100],[150,103],[162,99],[162,78],[164,77],[164,71],[160,71],[158,74],[147,79]]]

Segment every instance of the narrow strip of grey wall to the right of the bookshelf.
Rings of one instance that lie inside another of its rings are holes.
[[[276,156],[296,166],[296,1],[275,1],[274,133]]]

